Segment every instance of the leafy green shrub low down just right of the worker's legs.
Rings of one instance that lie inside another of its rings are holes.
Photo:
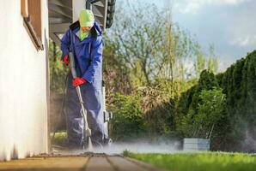
[[[116,93],[113,100],[112,138],[132,140],[145,133],[141,99],[138,96],[124,96]]]

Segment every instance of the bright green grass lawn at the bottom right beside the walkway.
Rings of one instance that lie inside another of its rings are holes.
[[[255,171],[256,156],[243,153],[180,153],[180,154],[135,154],[124,152],[137,160],[151,163],[172,171]]]

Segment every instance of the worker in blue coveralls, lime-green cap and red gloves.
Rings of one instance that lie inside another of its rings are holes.
[[[73,44],[73,45],[72,45]],[[69,52],[72,50],[75,57],[77,78],[68,75],[67,94],[64,112],[67,116],[67,131],[71,148],[82,147],[84,123],[81,115],[81,105],[78,102],[76,86],[81,87],[82,98],[87,109],[88,127],[91,129],[92,143],[105,144],[107,135],[104,134],[102,110],[102,31],[94,21],[91,10],[83,9],[76,21],[61,39],[63,62],[70,64]]]

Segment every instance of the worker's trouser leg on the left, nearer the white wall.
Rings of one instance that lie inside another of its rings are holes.
[[[67,94],[65,97],[64,112],[67,120],[67,131],[70,147],[81,147],[83,136],[83,119],[81,104],[79,103],[76,88],[72,85],[72,76],[67,81]]]

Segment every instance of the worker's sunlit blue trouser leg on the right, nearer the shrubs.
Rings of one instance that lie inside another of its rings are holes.
[[[88,127],[92,131],[93,144],[103,143],[104,140],[104,118],[103,98],[101,89],[94,89],[93,85],[87,83],[84,87],[84,102],[88,113]]]

